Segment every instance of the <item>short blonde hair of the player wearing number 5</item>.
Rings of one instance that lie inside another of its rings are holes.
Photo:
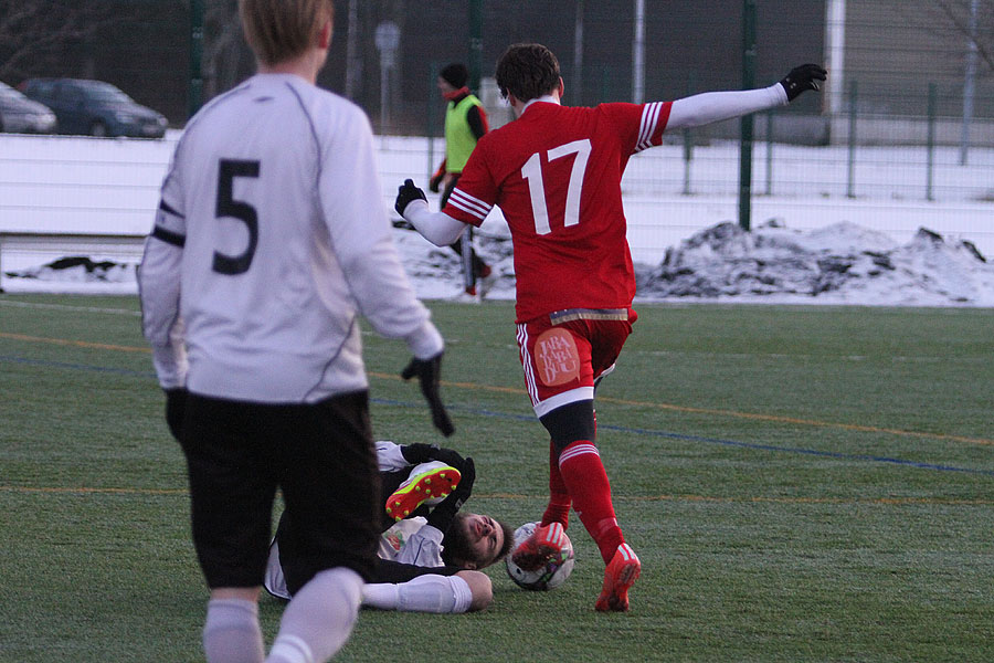
[[[266,65],[303,55],[335,18],[334,0],[239,0],[245,39]]]

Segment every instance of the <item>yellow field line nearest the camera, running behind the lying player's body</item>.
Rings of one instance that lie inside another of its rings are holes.
[[[120,488],[91,486],[0,486],[2,493],[21,494],[49,494],[49,495],[166,495],[187,496],[187,488]],[[482,493],[474,495],[477,499],[539,499],[539,495],[520,495],[516,493]],[[709,495],[645,495],[624,496],[615,495],[615,502],[706,502],[715,504],[827,504],[827,505],[859,505],[874,504],[882,506],[918,506],[918,505],[948,505],[948,506],[991,506],[994,499],[953,499],[929,497],[870,497],[844,499],[840,497],[715,497]]]

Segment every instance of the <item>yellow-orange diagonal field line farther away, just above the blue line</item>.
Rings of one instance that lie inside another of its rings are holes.
[[[150,352],[145,347],[118,346],[99,343],[88,343],[85,340],[68,340],[64,338],[42,338],[38,336],[28,336],[24,334],[8,334],[0,332],[0,338],[9,338],[12,340],[27,340],[31,343],[47,343],[52,345],[74,346],[103,350],[117,350],[121,352]],[[371,378],[381,380],[400,380],[400,377],[392,373],[382,373],[370,371]],[[448,382],[442,381],[444,387],[465,390],[490,391],[494,393],[519,393],[525,394],[526,391],[514,387],[493,387],[489,385],[479,385],[476,382]],[[818,421],[815,419],[797,419],[794,417],[781,417],[778,414],[757,414],[754,412],[737,412],[734,410],[712,410],[708,408],[695,408],[690,406],[676,406],[673,403],[656,403],[646,401],[633,401],[611,397],[598,397],[601,402],[617,403],[623,406],[633,406],[639,408],[653,408],[657,410],[668,410],[670,412],[686,412],[695,414],[709,414],[717,417],[729,417],[734,419],[750,419],[753,421],[769,421],[773,423],[791,423],[795,425],[807,425],[813,428],[834,428],[844,431],[856,431],[860,433],[886,433],[889,435],[898,435],[903,438],[924,438],[930,440],[949,440],[951,442],[963,442],[966,444],[980,444],[985,446],[994,446],[994,440],[984,438],[969,438],[964,435],[949,435],[944,433],[923,433],[920,431],[906,431],[901,429],[880,428],[876,425],[860,425],[856,423],[837,423],[832,421]]]

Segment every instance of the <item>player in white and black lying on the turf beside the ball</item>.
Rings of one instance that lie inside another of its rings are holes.
[[[479,571],[503,559],[514,532],[490,516],[459,513],[473,491],[473,459],[427,444],[377,443],[384,498],[383,534],[362,606],[381,610],[457,613],[483,610],[494,598]],[[286,514],[269,547],[265,588],[289,599],[307,577],[308,555]]]

